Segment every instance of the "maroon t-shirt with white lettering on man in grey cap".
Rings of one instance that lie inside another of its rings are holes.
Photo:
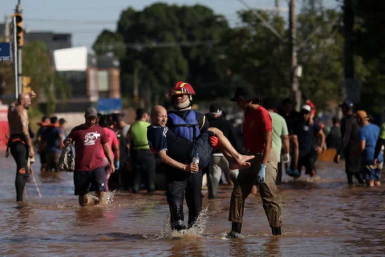
[[[103,127],[85,124],[74,127],[67,138],[75,142],[75,171],[90,171],[103,167],[100,149],[108,142]]]

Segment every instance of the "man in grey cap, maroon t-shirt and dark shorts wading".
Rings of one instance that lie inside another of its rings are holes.
[[[111,149],[108,146],[108,136],[103,127],[96,124],[97,111],[89,107],[85,114],[86,123],[74,127],[65,140],[65,144],[75,143],[75,195],[79,195],[79,204],[87,206],[89,191],[95,191],[95,204],[98,204],[104,196],[106,172],[103,166],[104,153],[111,165],[111,173],[115,171]]]

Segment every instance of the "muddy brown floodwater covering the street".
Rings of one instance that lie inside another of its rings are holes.
[[[14,161],[0,155],[1,256],[385,255],[385,186],[348,188],[342,165],[319,163],[321,179],[314,183],[293,183],[284,175],[289,182],[277,192],[281,236],[271,235],[261,199],[251,195],[244,237],[227,239],[230,186],[222,186],[216,200],[208,200],[203,191],[207,210],[201,235],[177,236],[168,228],[163,191],[152,196],[119,192],[110,195],[108,206],[81,208],[72,173],[42,176],[38,163],[33,167],[42,197],[31,179],[27,204],[18,207]]]

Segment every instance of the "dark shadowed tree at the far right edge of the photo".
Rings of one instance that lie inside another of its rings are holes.
[[[361,103],[358,107],[369,112],[383,112],[385,104],[385,5],[383,1],[353,0],[354,68],[362,82]]]

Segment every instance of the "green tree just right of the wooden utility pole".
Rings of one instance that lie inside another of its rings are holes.
[[[300,90],[316,106],[342,100],[343,38],[339,33],[342,14],[325,10],[322,1],[304,1],[297,16],[298,63],[303,67]]]

